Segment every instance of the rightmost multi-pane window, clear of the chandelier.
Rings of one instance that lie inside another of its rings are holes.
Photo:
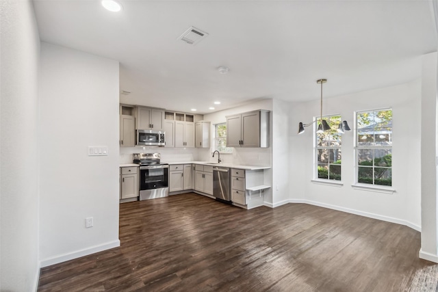
[[[357,113],[357,183],[392,185],[392,109]]]

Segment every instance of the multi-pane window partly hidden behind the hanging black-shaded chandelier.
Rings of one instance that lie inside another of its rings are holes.
[[[329,124],[342,122],[341,116],[325,116]],[[316,128],[315,128],[316,129]],[[336,129],[315,133],[316,177],[341,180],[341,134]]]

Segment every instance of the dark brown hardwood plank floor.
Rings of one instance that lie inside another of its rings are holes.
[[[120,242],[43,268],[38,291],[404,291],[432,265],[407,226],[196,194],[120,204]]]

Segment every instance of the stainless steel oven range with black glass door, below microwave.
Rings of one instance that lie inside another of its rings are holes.
[[[159,153],[134,153],[133,163],[140,164],[140,201],[169,195],[169,165],[160,163]]]

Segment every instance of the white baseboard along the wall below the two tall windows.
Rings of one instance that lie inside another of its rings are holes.
[[[283,200],[283,201],[275,203],[275,204],[270,204],[270,203],[265,202],[264,205],[268,206],[268,207],[271,207],[271,208],[275,208],[275,207],[281,206],[282,204],[287,204],[287,203],[312,204],[312,205],[318,206],[318,207],[333,209],[333,210],[337,210],[337,211],[342,211],[342,212],[346,212],[346,213],[351,213],[351,214],[355,214],[355,215],[361,215],[361,216],[364,216],[364,217],[378,219],[378,220],[382,220],[382,221],[386,221],[386,222],[401,224],[401,225],[404,225],[404,226],[408,226],[409,228],[412,228],[413,230],[417,230],[420,233],[422,232],[421,226],[413,224],[412,222],[409,222],[407,220],[401,220],[401,219],[394,218],[394,217],[388,217],[388,216],[378,215],[378,214],[374,214],[374,213],[368,213],[368,212],[364,212],[364,211],[359,211],[359,210],[355,210],[355,209],[339,207],[339,206],[335,206],[335,205],[332,205],[332,204],[324,204],[324,203],[321,203],[321,202],[315,202],[315,201],[311,201],[311,200],[289,199],[289,200]]]

